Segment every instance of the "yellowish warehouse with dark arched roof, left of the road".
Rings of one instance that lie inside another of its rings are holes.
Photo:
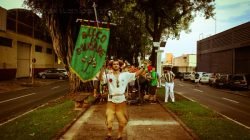
[[[62,67],[41,23],[29,10],[0,7],[0,80],[29,77],[32,71]]]

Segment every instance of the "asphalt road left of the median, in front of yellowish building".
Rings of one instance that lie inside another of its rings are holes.
[[[0,122],[21,115],[68,93],[68,81],[0,94]]]

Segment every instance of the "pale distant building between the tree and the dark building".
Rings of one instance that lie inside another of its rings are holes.
[[[174,69],[177,72],[193,72],[196,69],[196,55],[183,54],[174,58]]]

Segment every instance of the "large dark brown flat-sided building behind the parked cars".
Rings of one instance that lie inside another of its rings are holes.
[[[250,22],[198,41],[197,70],[250,73]]]

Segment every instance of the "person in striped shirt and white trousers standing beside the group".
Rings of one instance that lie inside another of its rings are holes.
[[[175,97],[174,97],[175,74],[171,71],[171,67],[164,67],[163,71],[164,73],[162,75],[162,78],[165,81],[165,102],[168,102],[169,95],[172,102],[175,102]]]

